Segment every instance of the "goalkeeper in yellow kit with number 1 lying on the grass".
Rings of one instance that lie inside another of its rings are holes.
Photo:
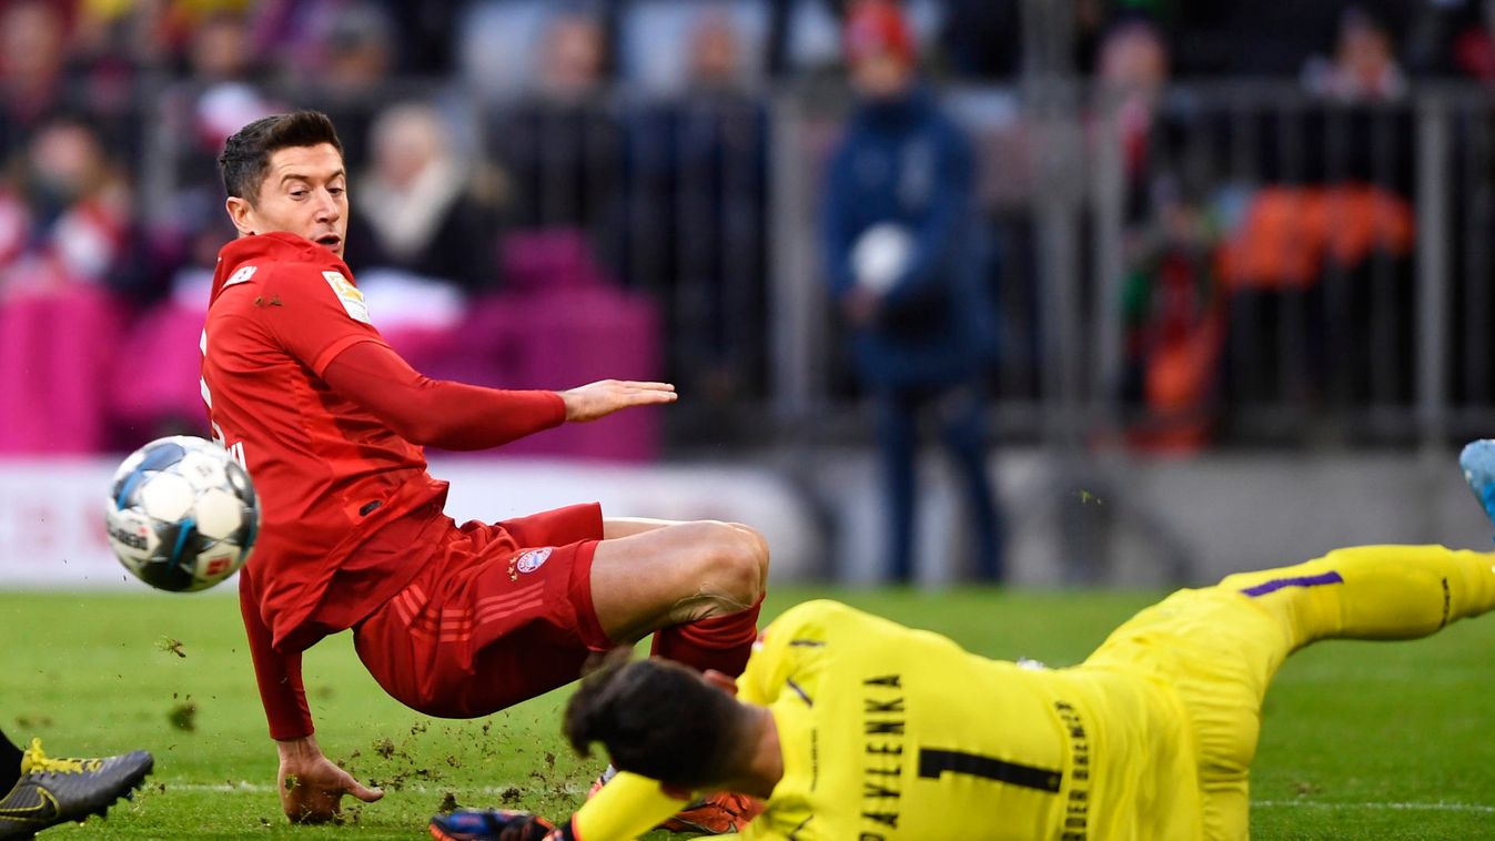
[[[1386,545],[1232,575],[1144,609],[1067,669],[809,602],[765,630],[736,684],[617,657],[583,681],[567,735],[583,751],[602,742],[622,772],[565,825],[466,811],[432,819],[432,835],[634,838],[694,792],[730,790],[764,801],[743,838],[1244,840],[1262,698],[1283,660],[1483,614],[1492,565]]]

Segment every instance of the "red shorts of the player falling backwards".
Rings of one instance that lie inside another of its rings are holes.
[[[496,713],[582,675],[611,647],[592,606],[602,509],[456,523],[426,568],[353,627],[359,659],[428,716]]]

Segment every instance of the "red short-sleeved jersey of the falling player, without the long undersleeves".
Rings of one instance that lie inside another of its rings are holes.
[[[223,248],[203,329],[203,400],[214,438],[260,496],[263,527],[244,575],[277,650],[368,615],[420,569],[435,545],[426,532],[450,527],[447,482],[426,472],[422,448],[323,379],[360,342],[389,347],[330,251],[289,233]],[[535,429],[561,423],[556,394],[531,394],[543,396]]]

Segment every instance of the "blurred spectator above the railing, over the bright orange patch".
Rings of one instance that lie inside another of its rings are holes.
[[[1407,93],[1407,76],[1396,64],[1390,31],[1359,6],[1340,16],[1334,58],[1308,60],[1304,85],[1340,102],[1387,102]]]

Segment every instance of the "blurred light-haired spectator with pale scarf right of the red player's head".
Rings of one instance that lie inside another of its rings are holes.
[[[428,105],[396,105],[375,120],[371,166],[353,179],[359,212],[348,221],[345,260],[360,281],[393,272],[468,294],[493,288],[493,179],[474,178],[450,134]]]

